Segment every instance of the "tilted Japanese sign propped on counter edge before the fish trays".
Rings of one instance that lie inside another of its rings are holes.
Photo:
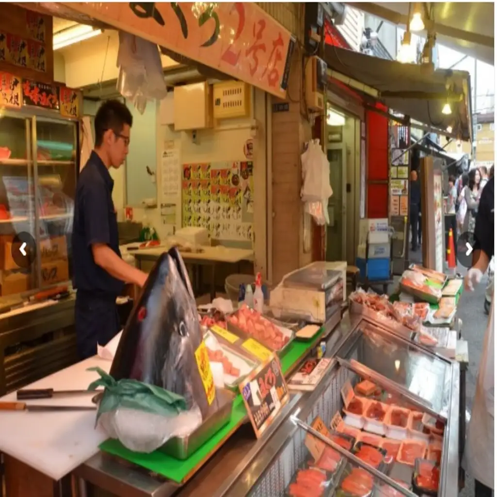
[[[239,388],[255,436],[260,438],[290,398],[276,355],[257,366]]]

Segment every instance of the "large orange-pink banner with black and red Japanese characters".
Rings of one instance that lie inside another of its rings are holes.
[[[286,96],[295,37],[249,2],[63,2],[184,57]]]

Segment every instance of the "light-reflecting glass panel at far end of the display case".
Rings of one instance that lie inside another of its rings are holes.
[[[337,356],[354,360],[427,401],[434,412],[447,415],[451,363],[412,342],[362,321]]]

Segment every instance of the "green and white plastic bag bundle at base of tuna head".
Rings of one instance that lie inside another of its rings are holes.
[[[153,452],[174,436],[187,436],[201,423],[197,406],[186,410],[185,399],[137,380],[116,381],[100,368],[100,378],[88,390],[103,386],[96,424],[111,437],[135,452]]]

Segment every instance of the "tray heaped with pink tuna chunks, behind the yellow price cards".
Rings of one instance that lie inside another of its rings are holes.
[[[253,338],[264,347],[281,354],[294,338],[293,331],[277,326],[248,306],[228,318],[228,330],[242,338]]]

